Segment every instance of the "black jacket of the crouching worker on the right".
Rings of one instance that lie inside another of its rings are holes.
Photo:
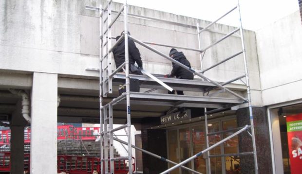
[[[190,62],[187,60],[186,56],[183,52],[176,52],[173,54],[173,59],[186,65],[187,67],[191,68]],[[192,72],[185,70],[184,68],[180,67],[179,65],[172,62],[172,71],[170,73],[170,77],[176,76],[177,78],[181,79],[193,79],[194,75]]]

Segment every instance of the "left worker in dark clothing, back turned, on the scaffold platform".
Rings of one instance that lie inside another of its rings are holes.
[[[130,35],[130,33],[128,32]],[[118,40],[123,35],[116,36],[116,40]],[[135,43],[132,39],[128,39],[128,50],[129,50],[129,72],[132,74],[143,75],[141,70],[143,70],[143,62],[140,57],[139,50],[136,48]],[[113,57],[115,61],[115,66],[118,68],[125,62],[125,38],[123,38],[112,50]],[[134,65],[138,65],[138,68]],[[122,72],[123,70],[120,70]]]

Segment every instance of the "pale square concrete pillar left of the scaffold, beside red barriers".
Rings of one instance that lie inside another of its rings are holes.
[[[57,173],[57,74],[33,74],[30,148],[31,174]]]

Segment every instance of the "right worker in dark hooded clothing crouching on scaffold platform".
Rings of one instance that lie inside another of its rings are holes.
[[[170,50],[169,56],[173,58],[174,60],[186,65],[187,67],[191,68],[190,62],[186,58],[183,52],[178,52],[176,49],[172,48]],[[193,80],[194,75],[192,72],[185,70],[184,68],[180,67],[179,65],[175,64],[172,62],[172,71],[170,74],[165,75],[165,77],[174,77],[179,79],[191,79]],[[178,95],[184,95],[184,91],[182,90],[177,90],[176,91]],[[175,91],[169,91],[169,94],[175,94]]]

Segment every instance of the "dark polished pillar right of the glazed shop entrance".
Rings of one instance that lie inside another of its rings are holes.
[[[255,140],[258,159],[259,174],[272,174],[272,160],[269,141],[268,118],[265,107],[253,107]],[[249,124],[248,108],[241,108],[237,111],[238,127]],[[252,140],[248,133],[244,132],[238,136],[239,152],[253,151]],[[254,159],[252,155],[241,156],[240,166],[242,174],[254,174]]]

